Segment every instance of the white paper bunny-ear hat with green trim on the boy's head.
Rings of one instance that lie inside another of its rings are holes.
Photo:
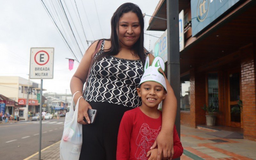
[[[161,57],[156,56],[152,62],[152,65],[149,66],[149,57],[147,56],[144,66],[144,74],[141,77],[140,84],[147,81],[154,81],[161,84],[167,91],[164,75],[159,72],[160,68],[162,68],[163,71],[165,69],[164,60]]]

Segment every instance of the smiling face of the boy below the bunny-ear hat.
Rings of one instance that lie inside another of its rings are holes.
[[[139,97],[141,97],[142,104],[147,107],[156,107],[166,96],[164,87],[154,81],[144,82],[137,88]]]

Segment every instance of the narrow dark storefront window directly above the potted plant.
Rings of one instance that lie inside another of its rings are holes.
[[[218,73],[208,73],[208,105],[219,109]]]

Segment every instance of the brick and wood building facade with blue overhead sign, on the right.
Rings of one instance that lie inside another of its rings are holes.
[[[148,30],[165,31],[166,0],[160,0]],[[243,129],[256,140],[256,2],[179,0],[184,11],[180,51],[180,123],[205,124],[202,107],[212,106],[216,125]],[[180,39],[181,41],[181,39]]]

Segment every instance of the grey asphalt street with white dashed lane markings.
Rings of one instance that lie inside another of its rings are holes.
[[[65,117],[42,121],[42,147],[61,140]],[[20,160],[39,150],[39,120],[0,124],[0,155]]]

